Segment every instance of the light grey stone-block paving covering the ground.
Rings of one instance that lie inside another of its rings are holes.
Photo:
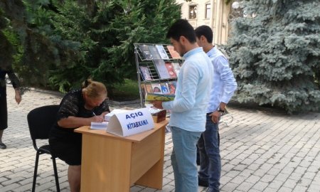
[[[36,151],[31,143],[26,115],[33,108],[58,104],[60,99],[59,95],[30,91],[23,95],[21,104],[16,105],[14,91],[8,87],[9,128],[3,137],[8,149],[0,149],[1,192],[31,191]],[[226,124],[220,126],[221,191],[320,191],[320,113],[289,116],[279,110],[235,105],[229,110],[233,121],[224,117]],[[166,134],[161,190],[165,192],[174,191],[171,150],[169,133]],[[39,163],[36,191],[55,191],[49,156],[40,156]],[[57,164],[61,191],[70,191],[67,166],[60,159]],[[130,191],[157,190],[132,186]],[[198,191],[206,191],[206,188],[199,187]]]

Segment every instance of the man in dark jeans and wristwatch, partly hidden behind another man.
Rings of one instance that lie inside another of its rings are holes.
[[[219,120],[225,112],[225,106],[237,89],[237,82],[225,55],[213,46],[213,31],[209,26],[199,26],[195,30],[197,43],[203,47],[213,65],[213,86],[207,109],[206,131],[198,141],[200,170],[198,184],[208,186],[208,192],[219,191],[220,186],[220,135]]]

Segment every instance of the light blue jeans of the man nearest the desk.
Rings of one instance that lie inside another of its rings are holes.
[[[171,164],[174,169],[175,191],[197,192],[196,144],[201,132],[188,132],[178,127],[171,127],[171,132],[174,143]]]

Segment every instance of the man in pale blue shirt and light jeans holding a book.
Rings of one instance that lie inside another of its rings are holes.
[[[174,149],[171,164],[176,192],[197,192],[196,144],[206,129],[213,66],[196,43],[193,27],[179,19],[167,33],[174,49],[185,58],[176,83],[176,97],[170,102],[153,102],[154,107],[171,111],[169,126]]]

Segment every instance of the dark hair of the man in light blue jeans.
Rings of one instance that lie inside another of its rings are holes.
[[[166,38],[173,38],[176,41],[179,41],[181,36],[188,39],[190,43],[196,43],[196,33],[194,33],[193,26],[186,19],[178,19],[166,33]]]

